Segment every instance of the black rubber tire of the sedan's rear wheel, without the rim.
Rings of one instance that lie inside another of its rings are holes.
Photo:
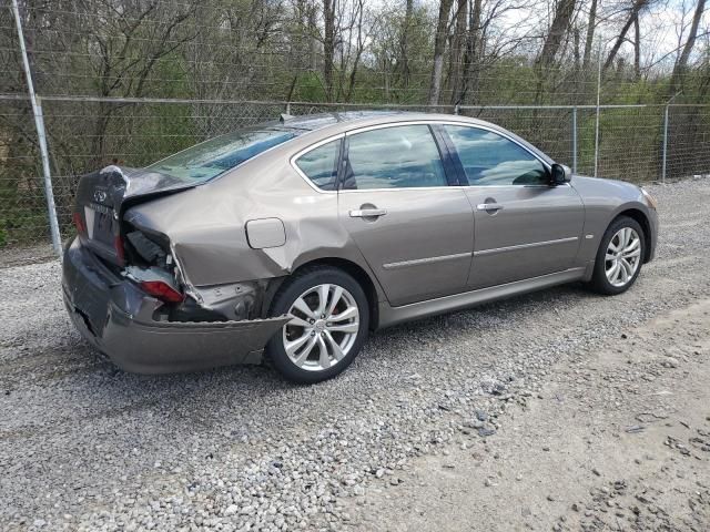
[[[369,305],[367,296],[359,283],[345,272],[331,266],[313,266],[306,267],[291,278],[288,278],[280,288],[271,305],[270,316],[282,316],[287,314],[294,301],[310,288],[323,284],[337,285],[345,288],[353,296],[357,305],[359,329],[356,332],[355,340],[346,355],[334,366],[323,370],[303,369],[288,357],[283,344],[283,330],[276,332],[265,349],[265,361],[274,367],[285,379],[310,385],[332,379],[343,372],[355,359],[357,354],[367,339],[369,330]]]

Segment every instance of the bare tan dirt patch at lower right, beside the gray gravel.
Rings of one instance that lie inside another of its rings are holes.
[[[495,434],[470,443],[476,423],[462,426],[458,447],[353,501],[351,524],[710,530],[709,332],[704,299],[572,356],[541,393],[494,420]]]

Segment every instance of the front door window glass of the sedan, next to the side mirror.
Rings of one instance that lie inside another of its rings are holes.
[[[493,131],[444,125],[469,185],[547,185],[547,170],[530,152]]]

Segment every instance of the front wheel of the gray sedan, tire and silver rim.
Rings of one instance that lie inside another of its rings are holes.
[[[615,219],[597,252],[592,288],[608,295],[628,290],[641,272],[645,249],[643,231],[639,223],[627,216]]]

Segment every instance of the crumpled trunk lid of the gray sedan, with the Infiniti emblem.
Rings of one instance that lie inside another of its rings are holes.
[[[144,201],[192,188],[194,182],[151,170],[106,166],[79,181],[74,222],[79,237],[97,255],[124,265],[121,219],[125,209]]]

